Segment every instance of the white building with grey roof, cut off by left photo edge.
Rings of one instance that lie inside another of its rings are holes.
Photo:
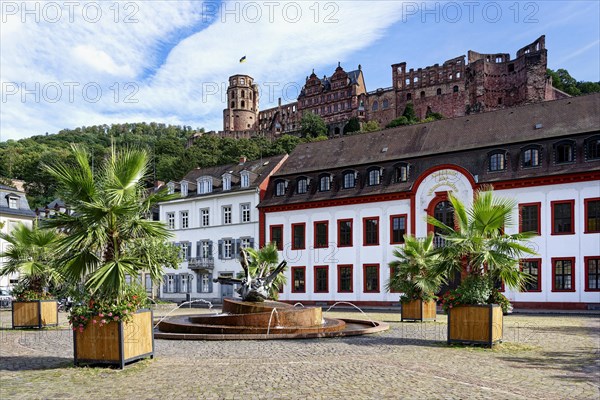
[[[36,215],[29,208],[25,192],[10,186],[0,185],[0,227],[2,233],[10,232],[19,224],[33,225]],[[6,250],[8,243],[0,238],[0,253]],[[0,260],[4,264],[4,260]],[[0,276],[0,288],[12,288],[19,280],[18,274]]]

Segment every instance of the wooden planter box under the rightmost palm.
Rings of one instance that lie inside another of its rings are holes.
[[[502,341],[502,308],[498,304],[458,306],[448,310],[448,344],[493,346]]]

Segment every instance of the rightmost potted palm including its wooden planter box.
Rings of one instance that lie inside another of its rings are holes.
[[[438,227],[445,246],[437,249],[438,269],[446,276],[457,271],[465,275],[457,289],[443,296],[448,313],[448,343],[474,343],[492,346],[502,340],[503,310],[508,300],[494,291],[495,282],[513,288],[528,279],[519,269],[523,255],[535,254],[526,246],[532,233],[506,234],[513,224],[512,200],[496,198],[491,189],[475,192],[469,209],[450,195],[454,207],[454,227],[434,218],[429,223]]]

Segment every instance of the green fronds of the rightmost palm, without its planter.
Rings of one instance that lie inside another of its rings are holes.
[[[428,222],[441,230],[446,244],[437,249],[438,271],[446,276],[461,272],[466,263],[473,278],[487,278],[489,283],[501,280],[511,288],[521,287],[527,275],[519,270],[519,259],[525,254],[536,254],[527,247],[533,233],[506,234],[513,225],[512,211],[516,202],[494,197],[489,188],[475,193],[473,205],[467,207],[450,195],[454,207],[454,225],[447,226],[435,218]]]

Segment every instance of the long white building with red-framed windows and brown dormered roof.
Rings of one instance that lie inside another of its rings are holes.
[[[517,203],[506,232],[538,233],[521,260],[533,281],[502,287],[515,307],[600,306],[598,106],[593,95],[299,146],[260,205],[261,242],[289,265],[280,299],[398,303],[386,283],[402,236],[434,232],[428,215],[452,224],[449,193],[469,204],[492,186]]]

